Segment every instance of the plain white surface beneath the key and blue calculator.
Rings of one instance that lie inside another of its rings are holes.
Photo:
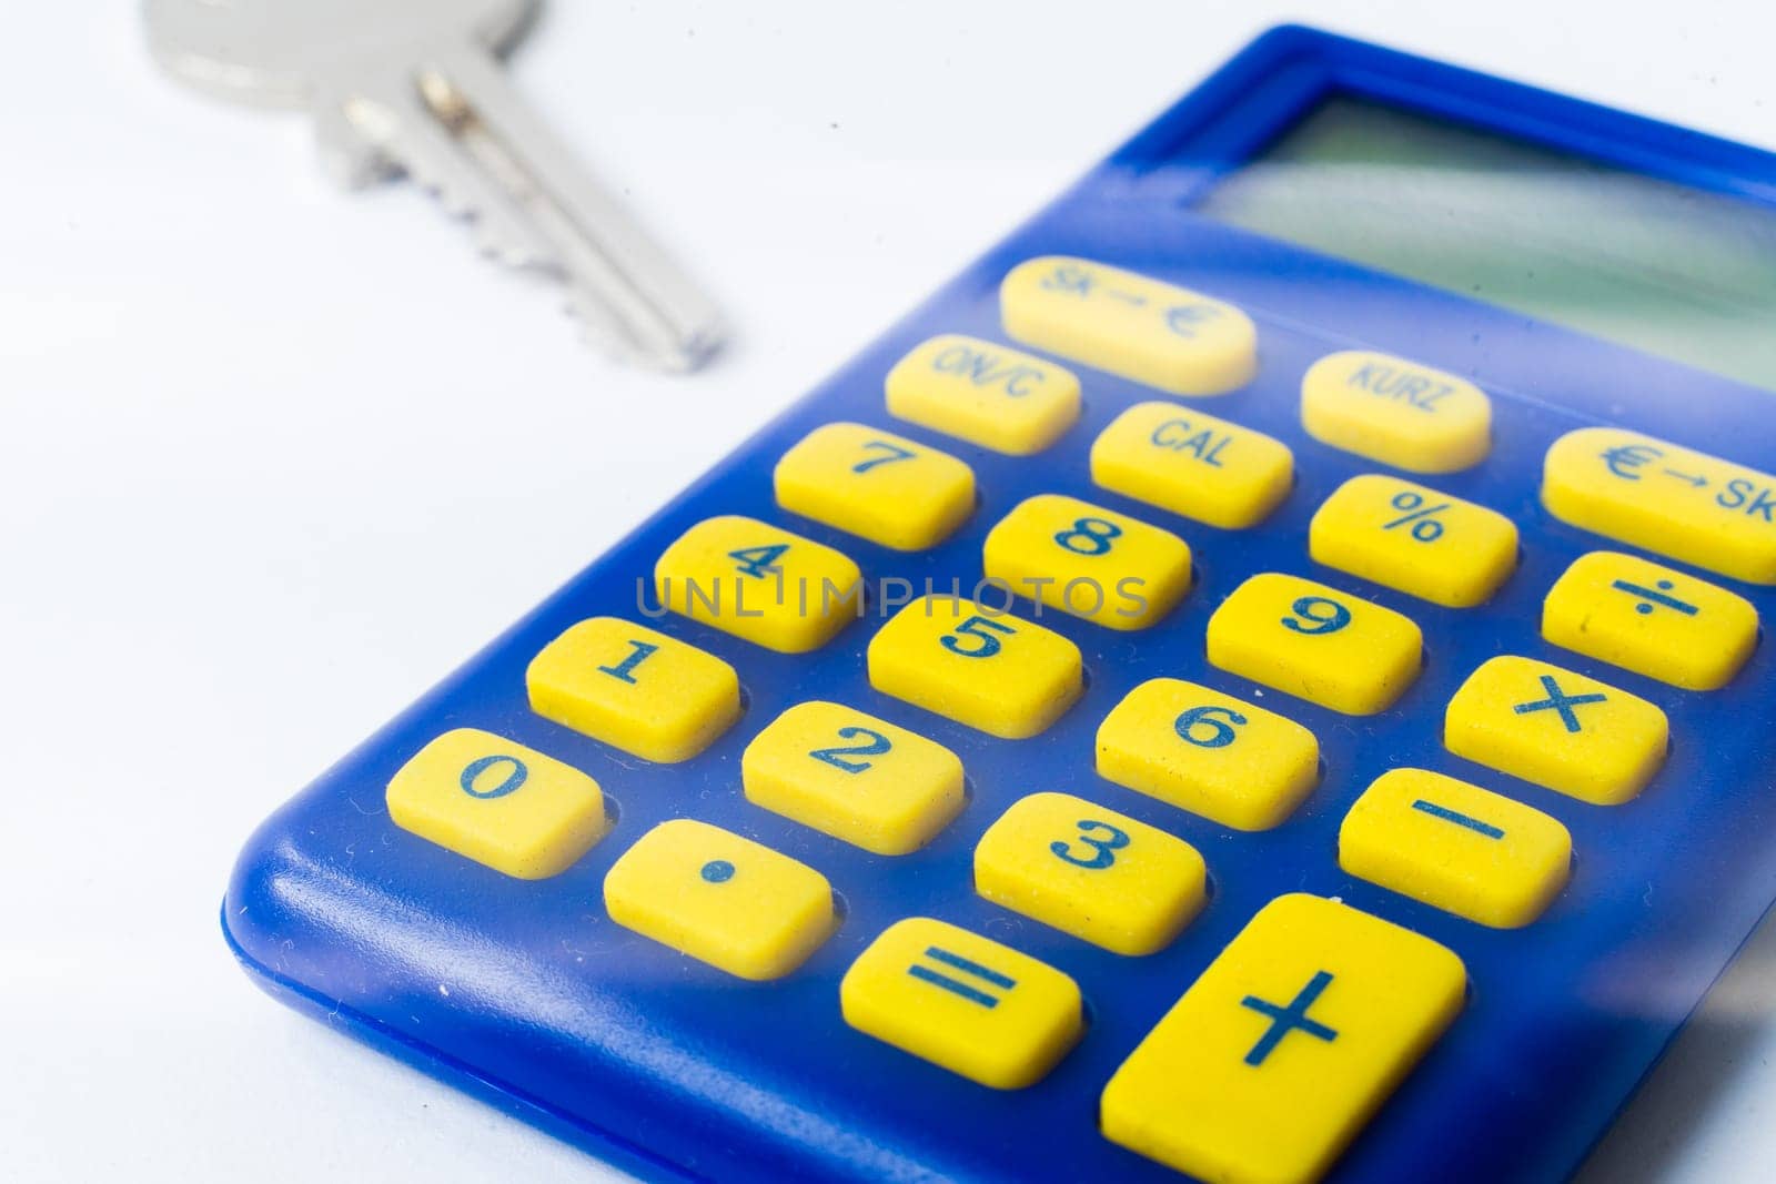
[[[163,83],[133,5],[12,14],[0,1177],[593,1175],[247,983],[215,914],[263,815],[1265,25],[1772,146],[1764,7],[559,0],[522,87],[732,309],[693,382],[602,364],[412,188],[329,190],[300,121]],[[1776,1154],[1771,950],[1598,1179]]]

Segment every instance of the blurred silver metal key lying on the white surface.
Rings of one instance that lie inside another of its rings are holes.
[[[627,360],[700,366],[714,304],[543,126],[501,57],[540,0],[146,0],[155,59],[210,94],[313,112],[345,185],[407,174],[474,222],[483,250],[568,286]]]

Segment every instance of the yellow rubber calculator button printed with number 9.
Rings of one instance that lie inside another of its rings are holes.
[[[1346,715],[1387,710],[1419,676],[1424,635],[1408,618],[1357,596],[1265,573],[1209,618],[1209,662]]]

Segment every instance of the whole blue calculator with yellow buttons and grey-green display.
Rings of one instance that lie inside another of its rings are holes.
[[[1776,158],[1252,43],[274,815],[645,1179],[1572,1172],[1776,898]]]

